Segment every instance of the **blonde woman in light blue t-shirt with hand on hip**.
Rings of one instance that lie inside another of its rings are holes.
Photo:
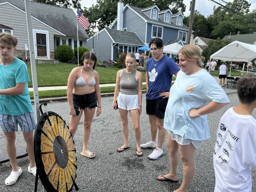
[[[203,140],[210,138],[207,115],[229,103],[216,80],[201,65],[201,52],[195,45],[185,45],[179,51],[181,71],[170,89],[164,115],[168,130],[167,148],[171,170],[157,180],[178,182],[177,166],[183,163],[183,180],[176,191],[188,191],[195,174],[194,154]],[[204,81],[202,81],[202,78]]]

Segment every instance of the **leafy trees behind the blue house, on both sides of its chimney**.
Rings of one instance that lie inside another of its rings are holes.
[[[117,15],[117,3],[119,0],[97,0],[97,3],[92,7],[84,7],[84,16],[91,23],[90,29],[86,32],[92,35],[94,32],[92,29],[110,27]],[[186,9],[182,0],[126,0],[126,4],[133,5],[140,8],[145,8],[156,4],[160,10],[168,9],[170,6],[172,13],[184,12]]]

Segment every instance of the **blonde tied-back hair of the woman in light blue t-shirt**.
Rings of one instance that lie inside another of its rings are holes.
[[[198,67],[203,68],[201,64],[201,52],[196,45],[185,45],[180,49],[179,53],[183,54],[187,60],[196,60]]]

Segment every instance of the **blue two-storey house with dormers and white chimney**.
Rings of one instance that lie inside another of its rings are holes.
[[[183,19],[182,13],[172,14],[170,9],[161,11],[157,5],[138,8],[124,6],[120,0],[116,20],[109,29],[104,28],[88,39],[87,47],[92,49],[93,44],[98,60],[102,61],[116,60],[122,52],[135,53],[154,37],[161,38],[164,44],[170,39],[180,39],[186,44],[188,27],[183,25]]]

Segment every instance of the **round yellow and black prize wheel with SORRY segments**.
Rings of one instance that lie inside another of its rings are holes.
[[[69,192],[73,186],[78,190],[76,149],[68,126],[57,113],[43,114],[42,105],[34,138],[36,172],[47,192]]]

